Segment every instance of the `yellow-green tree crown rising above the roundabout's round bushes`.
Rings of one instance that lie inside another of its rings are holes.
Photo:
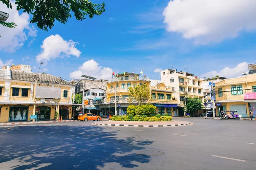
[[[129,102],[136,102],[137,105],[145,105],[150,102],[150,89],[146,84],[129,88]]]

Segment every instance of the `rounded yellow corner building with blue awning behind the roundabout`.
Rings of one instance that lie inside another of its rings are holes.
[[[172,107],[177,107],[177,100],[172,99],[171,88],[166,88],[166,85],[159,83],[151,87],[151,82],[148,78],[134,73],[119,73],[110,78],[106,85],[106,99],[104,103],[94,105],[102,109],[103,115],[114,115],[115,95],[117,105],[117,115],[126,113],[129,106],[129,87],[136,87],[138,85],[146,84],[151,89],[152,99],[151,103],[157,106],[157,113],[173,115]]]

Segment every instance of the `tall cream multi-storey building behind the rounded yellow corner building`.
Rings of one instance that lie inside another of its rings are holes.
[[[194,74],[185,71],[166,69],[160,72],[161,82],[172,88],[173,96],[178,101],[178,115],[183,116],[183,99],[185,97],[200,98],[204,101],[203,81],[194,77]],[[195,115],[196,116],[196,115]]]

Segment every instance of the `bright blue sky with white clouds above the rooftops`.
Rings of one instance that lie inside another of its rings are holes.
[[[160,79],[154,70],[172,65],[183,71],[187,64],[189,72],[201,77],[236,77],[247,64],[256,63],[256,19],[249,18],[251,12],[256,16],[255,3],[248,1],[237,10],[241,4],[235,0],[232,10],[221,0],[207,0],[212,6],[221,3],[215,9],[207,9],[204,0],[92,1],[106,3],[102,16],[84,21],[72,17],[65,25],[55,22],[52,29],[42,31],[19,13],[24,23],[19,20],[18,30],[0,26],[0,65],[27,64],[37,72],[44,61],[42,71],[65,79],[81,73],[106,79],[112,72],[143,69],[150,79]],[[4,10],[1,3],[0,11]]]

